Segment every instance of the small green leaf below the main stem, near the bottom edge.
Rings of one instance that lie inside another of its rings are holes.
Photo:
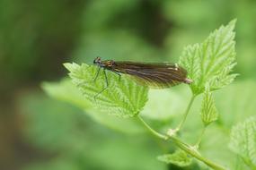
[[[176,166],[190,166],[192,158],[183,151],[176,150],[173,154],[165,154],[157,157],[158,160],[165,162],[166,164],[174,164]]]

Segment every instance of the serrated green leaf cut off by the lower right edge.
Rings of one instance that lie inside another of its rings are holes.
[[[229,148],[243,158],[244,163],[256,169],[256,117],[236,124],[231,131]]]

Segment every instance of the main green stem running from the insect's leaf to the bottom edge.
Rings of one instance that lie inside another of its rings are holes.
[[[195,148],[193,148],[192,146],[190,146],[189,144],[179,140],[178,138],[172,136],[172,135],[164,135],[161,134],[159,132],[154,131],[154,129],[152,129],[150,127],[150,125],[148,125],[142,117],[140,117],[139,115],[137,116],[138,120],[143,123],[146,126],[146,129],[151,132],[154,136],[163,139],[163,140],[172,140],[180,149],[184,150],[185,152],[187,152],[188,154],[190,154],[190,156],[192,157],[196,157],[197,159],[199,159],[200,161],[204,162],[207,166],[212,167],[215,170],[226,170],[225,167],[223,166],[219,166],[216,163],[213,163],[212,161],[208,160],[205,157],[202,157],[198,150],[196,150]]]

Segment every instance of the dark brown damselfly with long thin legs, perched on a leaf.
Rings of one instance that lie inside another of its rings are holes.
[[[99,72],[103,69],[106,86],[102,91],[94,96],[94,99],[109,87],[106,70],[119,75],[128,74],[139,84],[149,88],[164,89],[178,85],[180,83],[190,84],[192,81],[187,78],[187,71],[178,64],[144,64],[136,62],[115,62],[113,60],[102,61],[101,57],[96,57],[93,64],[99,66],[93,81],[96,81]]]

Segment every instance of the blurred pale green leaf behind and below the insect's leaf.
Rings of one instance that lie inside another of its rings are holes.
[[[44,82],[42,89],[44,89],[51,98],[56,98],[81,108],[84,110],[84,113],[92,117],[95,122],[101,123],[110,129],[131,134],[145,131],[145,128],[133,119],[120,119],[119,117],[102,113],[93,108],[90,101],[86,100],[81,91],[68,79],[64,79],[60,82]]]

